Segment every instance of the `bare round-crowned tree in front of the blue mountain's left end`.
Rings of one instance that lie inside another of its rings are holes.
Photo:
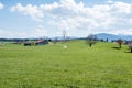
[[[91,47],[92,44],[97,43],[97,36],[94,34],[88,35],[86,38],[86,43],[89,45],[89,47]]]

